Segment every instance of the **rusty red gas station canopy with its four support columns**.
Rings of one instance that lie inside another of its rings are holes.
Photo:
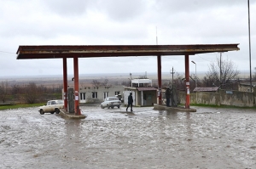
[[[74,70],[74,112],[79,109],[79,58],[157,56],[159,104],[161,104],[161,56],[183,55],[185,59],[186,104],[189,109],[189,55],[228,52],[239,50],[236,44],[195,44],[195,45],[90,45],[90,46],[20,46],[17,59],[62,59],[63,60],[63,98],[67,110],[67,58],[73,58]]]

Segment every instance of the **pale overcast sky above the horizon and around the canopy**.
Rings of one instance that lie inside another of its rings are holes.
[[[20,45],[240,43],[222,54],[249,71],[247,0],[0,0],[0,76],[62,75],[62,59],[16,59]],[[256,1],[250,1],[252,71]],[[207,71],[218,53],[189,56]],[[157,72],[157,58],[79,59],[79,74]],[[73,59],[67,59],[73,75]],[[163,56],[162,72],[184,71],[184,56]],[[190,73],[195,65],[189,62]]]

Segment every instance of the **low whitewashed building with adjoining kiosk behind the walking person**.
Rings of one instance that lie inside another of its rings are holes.
[[[131,85],[132,87],[80,87],[79,103],[101,103],[107,97],[119,95],[124,100],[124,104],[128,104],[126,102],[130,93],[133,93],[133,104],[136,106],[148,106],[157,103],[157,89],[152,87],[152,80],[133,79]]]

